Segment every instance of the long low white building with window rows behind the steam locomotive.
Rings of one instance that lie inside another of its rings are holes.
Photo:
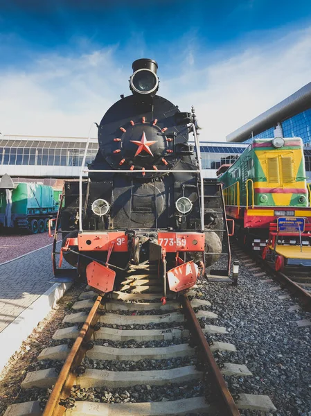
[[[0,137],[0,177],[76,178],[85,153],[86,137]],[[233,163],[247,144],[201,142],[204,177],[216,177],[221,164]],[[91,139],[86,164],[98,151],[97,139]]]

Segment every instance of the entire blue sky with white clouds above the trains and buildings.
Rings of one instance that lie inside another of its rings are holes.
[[[0,0],[0,131],[87,135],[146,57],[224,140],[310,82],[310,26],[305,0]]]

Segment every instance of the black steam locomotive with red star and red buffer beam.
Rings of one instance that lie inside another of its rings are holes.
[[[121,96],[98,125],[94,162],[86,168],[84,158],[80,180],[64,183],[60,263],[64,258],[75,266],[100,293],[113,290],[117,272],[153,263],[165,302],[167,286],[190,288],[217,259],[222,236],[213,228],[222,219],[217,210],[204,209],[209,200],[194,109],[180,112],[157,95],[154,60],[136,60],[132,69],[132,95]],[[55,240],[55,275],[62,270],[56,254]]]

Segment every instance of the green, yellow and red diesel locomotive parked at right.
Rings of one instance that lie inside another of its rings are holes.
[[[303,142],[298,137],[254,139],[218,181],[224,187],[227,216],[234,218],[239,239],[254,250],[265,247],[269,225],[279,217],[311,222]]]

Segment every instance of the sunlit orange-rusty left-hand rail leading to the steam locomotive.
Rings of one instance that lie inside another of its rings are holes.
[[[87,320],[75,340],[69,355],[62,366],[62,370],[54,385],[50,397],[46,403],[44,413],[42,416],[62,416],[66,410],[66,404],[69,404],[68,399],[71,394],[71,388],[75,381],[75,369],[80,365],[82,358],[87,352],[88,343],[94,333],[94,325],[100,317],[100,310],[103,309],[103,297],[98,296],[94,306],[92,307]]]

